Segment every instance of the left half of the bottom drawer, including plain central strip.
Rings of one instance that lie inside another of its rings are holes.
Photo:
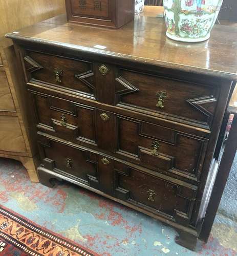
[[[85,147],[73,146],[57,138],[45,137],[41,133],[38,133],[37,138],[41,162],[45,168],[106,194],[113,194],[113,160],[107,157],[108,163],[104,164],[102,155]]]

